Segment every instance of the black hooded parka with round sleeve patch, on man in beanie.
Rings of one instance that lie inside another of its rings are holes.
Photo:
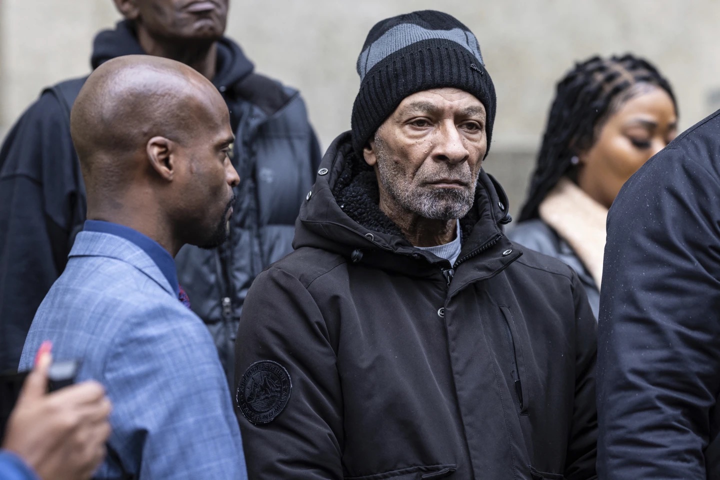
[[[595,328],[572,268],[503,233],[480,173],[456,263],[379,209],[349,132],[293,253],[248,293],[235,401],[251,479],[593,479]]]

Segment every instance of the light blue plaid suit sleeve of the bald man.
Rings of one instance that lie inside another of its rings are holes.
[[[244,480],[228,381],[207,328],[188,316],[157,307],[127,321],[104,368],[110,444],[139,479]]]

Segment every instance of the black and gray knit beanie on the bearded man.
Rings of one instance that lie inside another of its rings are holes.
[[[423,10],[377,22],[358,57],[360,91],[353,105],[353,147],[361,152],[406,96],[454,87],[473,94],[487,113],[490,150],[495,86],[472,32],[443,12]]]

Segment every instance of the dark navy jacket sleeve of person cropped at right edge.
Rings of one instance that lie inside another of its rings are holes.
[[[716,176],[666,149],[608,217],[598,348],[598,473],[705,479],[720,390]],[[715,427],[717,428],[717,427]]]

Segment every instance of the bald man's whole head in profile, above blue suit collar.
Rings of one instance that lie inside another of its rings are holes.
[[[207,78],[150,55],[109,60],[70,124],[89,219],[135,228],[171,253],[222,243],[239,178],[228,107]]]

